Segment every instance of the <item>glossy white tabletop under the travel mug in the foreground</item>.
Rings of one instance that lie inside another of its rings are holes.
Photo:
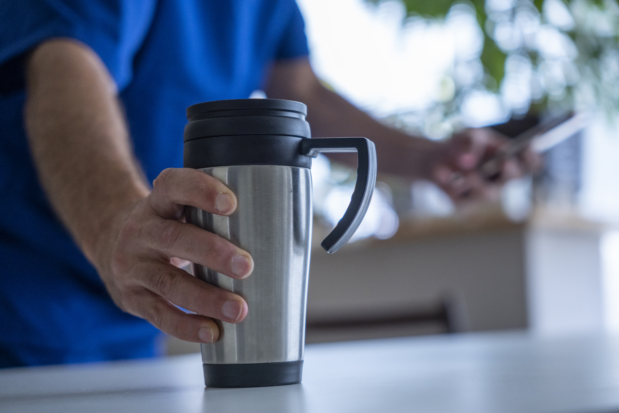
[[[0,370],[0,412],[619,412],[619,337],[454,334],[306,347],[303,383],[205,389],[197,354]]]

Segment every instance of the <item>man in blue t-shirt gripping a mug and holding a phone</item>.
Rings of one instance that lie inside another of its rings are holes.
[[[487,180],[476,166],[501,144],[487,129],[428,141],[322,87],[293,0],[0,0],[0,19],[0,367],[151,357],[159,329],[213,342],[211,318],[251,311],[179,267],[253,270],[183,222],[184,204],[236,208],[222,183],[181,168],[194,103],[256,89],[306,103],[314,137],[366,136],[381,172],[456,201],[491,198],[532,164]]]

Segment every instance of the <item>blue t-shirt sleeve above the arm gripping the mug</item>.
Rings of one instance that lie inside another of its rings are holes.
[[[156,0],[0,0],[0,66],[46,39],[73,38],[100,56],[122,90],[155,6]]]

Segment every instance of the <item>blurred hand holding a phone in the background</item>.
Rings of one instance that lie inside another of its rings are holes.
[[[537,170],[541,159],[526,149],[517,157],[503,160],[491,176],[480,170],[483,162],[491,159],[508,138],[490,128],[467,129],[442,144],[429,165],[430,178],[456,203],[477,199],[496,201],[501,186],[508,180]]]

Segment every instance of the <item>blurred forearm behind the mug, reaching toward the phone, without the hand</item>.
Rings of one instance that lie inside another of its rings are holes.
[[[326,89],[305,59],[275,63],[267,95],[299,100],[308,106],[307,120],[314,137],[364,136],[376,144],[380,172],[429,178],[440,145],[389,128]]]

